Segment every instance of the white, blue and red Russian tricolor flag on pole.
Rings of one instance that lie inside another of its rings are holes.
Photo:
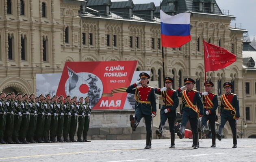
[[[162,47],[181,47],[191,40],[190,13],[171,16],[160,10]]]

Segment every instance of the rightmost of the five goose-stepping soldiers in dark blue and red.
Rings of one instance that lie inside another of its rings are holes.
[[[231,90],[233,88],[232,83],[226,82],[223,84],[225,88],[225,94],[221,95],[221,125],[219,126],[219,133],[217,133],[217,138],[221,141],[223,128],[228,121],[233,134],[233,147],[237,146],[237,136],[236,136],[236,122],[240,117],[239,113],[239,100],[236,94],[232,94]]]

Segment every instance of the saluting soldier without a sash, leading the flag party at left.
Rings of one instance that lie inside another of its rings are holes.
[[[148,86],[148,79],[150,79],[150,76],[145,72],[141,72],[139,77],[140,80],[137,81],[137,83],[130,85],[126,90],[127,93],[135,94],[135,100],[138,103],[135,108],[135,116],[130,115],[130,125],[132,130],[136,131],[141,118],[144,117],[147,130],[145,149],[150,149],[152,117],[156,116],[156,96],[154,88]],[[137,87],[139,84],[141,84],[141,86]]]

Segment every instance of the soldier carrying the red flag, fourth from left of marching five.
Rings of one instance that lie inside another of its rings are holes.
[[[215,121],[216,121],[216,109],[218,108],[218,96],[212,93],[213,90],[213,82],[206,81],[204,83],[206,86],[206,92],[202,92],[202,100],[204,103],[204,116],[202,117],[202,131],[204,132],[205,125],[209,120],[210,130],[212,132],[212,145],[211,147],[216,147],[216,131],[215,131]],[[206,107],[207,100],[207,107]]]

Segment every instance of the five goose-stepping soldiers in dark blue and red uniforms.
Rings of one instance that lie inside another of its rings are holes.
[[[136,83],[130,85],[126,92],[130,94],[135,94],[136,108],[135,115],[130,115],[130,126],[133,131],[136,131],[142,117],[145,119],[146,125],[146,147],[145,149],[151,149],[151,139],[152,139],[152,118],[156,116],[156,102],[155,94],[159,94],[163,97],[163,106],[161,107],[161,123],[159,129],[156,130],[156,134],[161,138],[165,122],[168,119],[169,131],[171,133],[171,146],[170,149],[175,148],[175,130],[174,123],[176,120],[176,109],[179,104],[179,97],[182,99],[182,123],[180,130],[177,130],[177,135],[180,139],[184,138],[184,132],[186,124],[189,121],[192,134],[193,134],[193,145],[194,149],[199,147],[199,137],[198,131],[203,132],[206,122],[209,121],[210,128],[212,130],[212,145],[211,147],[216,147],[216,136],[219,141],[222,139],[223,128],[228,121],[233,134],[233,147],[237,146],[237,136],[236,136],[236,122],[240,117],[239,114],[239,101],[236,94],[232,94],[231,90],[233,88],[232,83],[225,82],[223,87],[225,89],[225,94],[221,95],[221,125],[219,127],[219,132],[215,132],[215,121],[216,121],[216,109],[218,107],[218,98],[216,94],[212,93],[213,82],[206,81],[204,86],[206,87],[206,92],[199,92],[193,90],[195,85],[195,80],[191,78],[184,79],[184,86],[178,88],[178,90],[172,89],[172,83],[174,80],[170,77],[165,77],[165,87],[163,88],[153,88],[148,86],[148,79],[150,76],[142,72],[139,75],[140,79]],[[202,124],[198,126],[198,119],[202,117]],[[200,129],[202,128],[202,129]]]

